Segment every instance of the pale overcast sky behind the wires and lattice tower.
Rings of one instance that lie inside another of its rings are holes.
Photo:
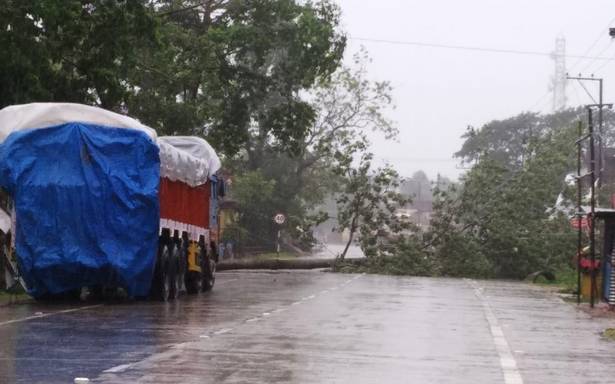
[[[391,111],[401,131],[399,143],[374,139],[374,152],[402,175],[422,169],[457,177],[452,154],[467,125],[479,127],[521,111],[548,112],[548,56],[427,48],[354,40],[473,46],[496,49],[554,50],[558,34],[568,55],[615,58],[607,26],[615,26],[613,0],[338,0],[351,40],[347,58],[361,45],[373,59],[373,79],[389,80],[397,108]],[[588,49],[594,42],[591,50]],[[605,101],[615,101],[615,61],[567,58],[570,73],[605,78]],[[598,71],[599,70],[599,71]],[[589,102],[568,84],[568,105]]]

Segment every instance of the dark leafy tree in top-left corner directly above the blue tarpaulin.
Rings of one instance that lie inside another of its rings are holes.
[[[119,111],[135,47],[152,47],[145,1],[7,0],[0,9],[0,107],[73,101]]]

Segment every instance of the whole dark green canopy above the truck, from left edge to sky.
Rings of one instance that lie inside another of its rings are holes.
[[[326,0],[7,0],[0,107],[94,104],[227,156],[296,152],[315,119],[301,93],[343,55],[339,17]]]

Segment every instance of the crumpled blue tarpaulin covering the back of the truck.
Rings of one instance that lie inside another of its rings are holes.
[[[149,293],[158,151],[143,131],[78,122],[16,131],[0,144],[0,186],[15,203],[15,248],[31,295],[92,285]]]

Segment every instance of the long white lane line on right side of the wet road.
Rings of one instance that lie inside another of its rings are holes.
[[[485,313],[485,317],[489,323],[493,343],[495,344],[495,349],[500,357],[500,366],[504,372],[504,382],[506,384],[523,384],[521,372],[519,372],[519,369],[517,368],[517,361],[512,354],[508,341],[506,341],[506,337],[500,327],[498,318],[495,317],[491,305],[489,305],[489,302],[485,296],[483,296],[483,289],[480,288],[478,283],[474,280],[465,279],[465,281],[468,282],[472,288],[474,288],[474,295],[476,295],[483,306],[483,312]]]

